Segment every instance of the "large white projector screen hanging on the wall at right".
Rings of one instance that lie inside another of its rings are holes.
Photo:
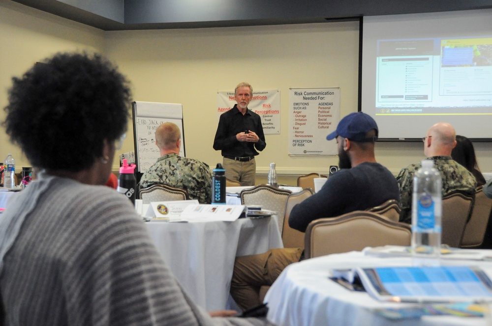
[[[364,17],[361,110],[381,140],[436,122],[492,141],[492,9]]]

